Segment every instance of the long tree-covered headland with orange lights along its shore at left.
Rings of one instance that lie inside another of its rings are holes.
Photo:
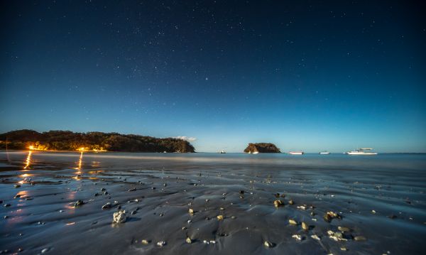
[[[188,141],[135,134],[30,129],[0,134],[0,149],[52,151],[195,152]]]

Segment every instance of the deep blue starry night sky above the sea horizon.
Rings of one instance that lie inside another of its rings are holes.
[[[0,132],[426,152],[420,1],[1,1]],[[195,141],[193,141],[196,139]]]

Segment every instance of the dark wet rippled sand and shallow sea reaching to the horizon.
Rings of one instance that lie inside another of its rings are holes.
[[[3,151],[0,250],[422,254],[425,192],[425,155]]]

